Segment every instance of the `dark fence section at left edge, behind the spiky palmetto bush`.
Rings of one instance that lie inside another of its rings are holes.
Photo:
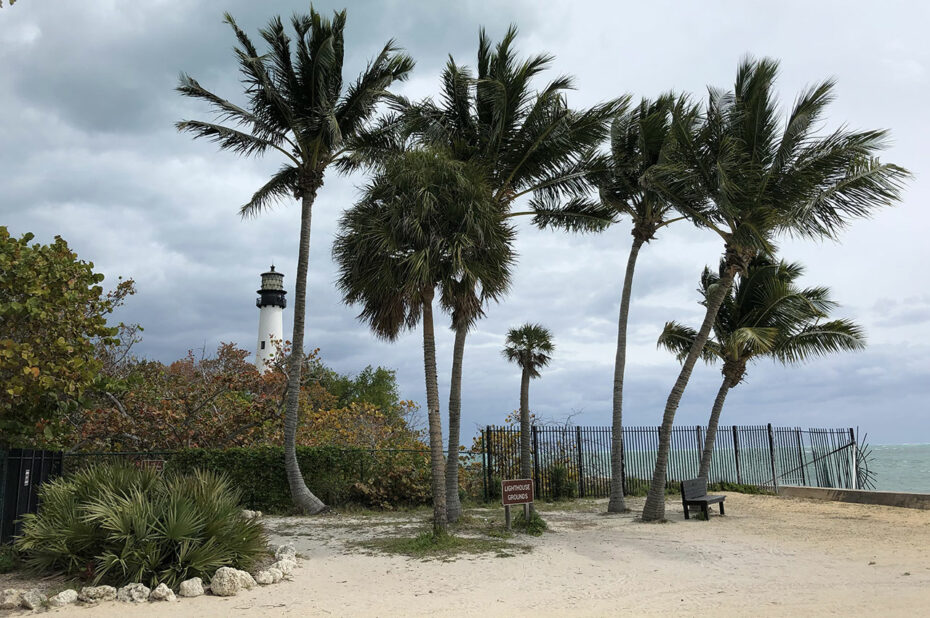
[[[60,451],[0,450],[0,543],[19,533],[20,517],[38,510],[39,485],[60,475],[61,466]]]

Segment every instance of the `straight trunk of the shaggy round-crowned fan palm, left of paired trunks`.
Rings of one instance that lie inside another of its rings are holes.
[[[442,419],[439,417],[439,381],[436,377],[433,290],[423,294],[423,371],[426,377],[430,468],[433,477],[433,534],[440,535],[446,532],[446,475],[442,452]]]

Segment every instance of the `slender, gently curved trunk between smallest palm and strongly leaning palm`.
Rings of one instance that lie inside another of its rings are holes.
[[[623,500],[623,372],[626,367],[626,326],[630,317],[630,295],[633,292],[633,271],[636,269],[636,257],[643,246],[643,240],[633,237],[630,257],[626,262],[626,274],[623,277],[623,293],[620,295],[620,318],[617,323],[617,358],[614,363],[614,418],[610,429],[610,500],[607,502],[608,513],[623,513],[626,502]]]

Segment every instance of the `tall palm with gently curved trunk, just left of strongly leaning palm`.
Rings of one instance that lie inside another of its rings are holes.
[[[672,113],[696,113],[682,97],[676,101],[664,95],[623,112],[613,121],[610,130],[610,159],[603,171],[595,172],[601,202],[606,211],[619,221],[629,217],[633,242],[627,259],[623,291],[620,295],[620,317],[617,325],[617,354],[614,364],[613,423],[611,427],[610,500],[607,511],[626,511],[623,499],[623,374],[626,366],[626,330],[630,315],[630,296],[636,259],[644,243],[653,240],[663,227],[683,217],[669,218],[672,205],[660,193],[645,188],[640,182],[653,165],[665,162],[670,148]]]

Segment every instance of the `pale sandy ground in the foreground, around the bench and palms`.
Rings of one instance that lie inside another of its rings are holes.
[[[632,499],[634,514],[641,499]],[[170,607],[107,603],[62,616],[607,616],[930,614],[930,511],[729,494],[726,517],[605,516],[604,501],[545,507],[551,531],[513,557],[421,561],[352,541],[413,533],[406,515],[269,518],[306,557],[293,581]],[[484,511],[499,516],[500,509]],[[482,512],[478,511],[477,516]]]

